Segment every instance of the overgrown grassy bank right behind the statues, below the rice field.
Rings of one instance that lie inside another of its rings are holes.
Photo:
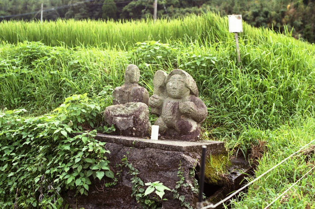
[[[256,46],[249,44],[251,39],[244,44],[240,38],[242,52],[246,53],[240,66],[235,60],[233,39],[206,44],[188,39],[169,44],[153,41],[128,51],[49,47],[40,42],[3,44],[0,103],[7,108],[49,111],[72,94],[97,95],[104,86],[121,85],[130,63],[139,66],[140,84],[151,95],[157,70],[181,68],[196,80],[208,107],[205,134],[238,136],[244,127],[268,129],[292,115],[314,113],[313,52],[288,37],[276,40]]]

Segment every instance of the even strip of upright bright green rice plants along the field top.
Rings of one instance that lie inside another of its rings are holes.
[[[211,17],[217,18],[216,15]],[[211,18],[209,17],[209,18]],[[39,24],[38,21],[3,21],[0,23],[1,40],[18,43],[25,40],[42,41],[46,45],[56,46],[64,43],[68,46],[92,45],[129,47],[138,41],[176,40],[185,36],[197,38],[205,34],[210,26],[205,25],[203,17],[191,16],[175,20],[57,20]]]

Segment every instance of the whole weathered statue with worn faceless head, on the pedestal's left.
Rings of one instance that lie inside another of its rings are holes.
[[[113,105],[106,107],[104,119],[114,125],[117,132],[124,136],[148,136],[151,131],[149,122],[149,93],[139,86],[140,71],[135,65],[128,65],[125,71],[125,84],[115,88]]]

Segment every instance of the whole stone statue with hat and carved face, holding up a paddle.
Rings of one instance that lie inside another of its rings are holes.
[[[183,70],[168,75],[159,70],[153,78],[153,96],[149,99],[151,112],[159,117],[161,136],[184,141],[197,141],[200,123],[207,117],[207,107],[198,98],[196,82]]]

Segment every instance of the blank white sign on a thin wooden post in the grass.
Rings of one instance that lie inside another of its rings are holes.
[[[237,51],[237,60],[241,62],[241,56],[238,46],[238,33],[243,32],[242,15],[227,15],[229,21],[229,32],[235,34],[235,43]]]

